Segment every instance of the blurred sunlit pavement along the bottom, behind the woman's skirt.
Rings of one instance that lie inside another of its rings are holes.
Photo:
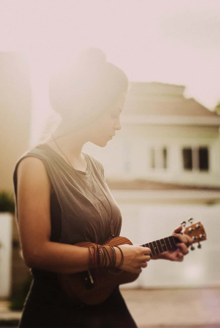
[[[139,328],[220,328],[220,288],[122,289]],[[15,327],[20,311],[0,300],[0,327]],[[117,327],[116,327],[117,328]]]

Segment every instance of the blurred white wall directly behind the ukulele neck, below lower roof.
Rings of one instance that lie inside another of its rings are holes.
[[[117,199],[116,199],[117,201]],[[125,205],[117,201],[122,212],[121,236],[143,244],[171,235],[182,220],[201,221],[207,234],[202,249],[195,245],[183,262],[151,260],[140,277],[125,288],[220,286],[220,204]]]

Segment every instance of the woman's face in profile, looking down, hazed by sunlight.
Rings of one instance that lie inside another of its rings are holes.
[[[99,147],[105,147],[107,142],[111,140],[116,131],[121,130],[120,113],[124,107],[126,92],[122,93],[109,112],[100,116],[98,120],[92,124],[90,133],[90,142]]]

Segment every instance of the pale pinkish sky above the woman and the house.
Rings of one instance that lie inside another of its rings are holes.
[[[0,0],[0,51],[27,56],[33,107],[49,106],[57,61],[98,47],[130,81],[186,86],[209,109],[220,100],[220,0]]]

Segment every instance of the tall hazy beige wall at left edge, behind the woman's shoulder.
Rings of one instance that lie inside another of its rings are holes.
[[[30,72],[21,54],[0,52],[0,90],[0,190],[12,191],[14,164],[30,136]]]

